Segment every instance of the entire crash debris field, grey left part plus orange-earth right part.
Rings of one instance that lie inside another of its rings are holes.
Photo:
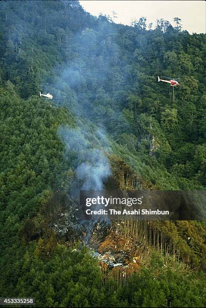
[[[60,241],[87,246],[107,274],[124,278],[145,265],[143,260],[147,259],[149,250],[142,236],[131,233],[136,226],[128,228],[126,221],[80,221],[77,203],[68,203],[64,209],[55,208],[55,214],[48,213],[49,226]]]

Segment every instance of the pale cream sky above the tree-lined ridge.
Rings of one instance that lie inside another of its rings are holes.
[[[173,25],[173,18],[179,17],[183,30],[189,33],[205,33],[206,3],[203,0],[80,0],[79,3],[85,11],[94,16],[102,13],[113,17],[115,11],[118,18],[115,18],[114,22],[118,24],[131,25],[132,20],[144,16],[147,18],[147,24],[152,22],[156,25],[156,19],[163,18]]]

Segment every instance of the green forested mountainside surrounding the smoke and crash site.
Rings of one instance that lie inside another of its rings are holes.
[[[127,277],[81,248],[75,219],[58,232],[80,186],[205,190],[206,36],[175,20],[152,30],[145,18],[130,27],[93,17],[76,1],[0,2],[1,296],[205,306],[204,221],[114,223],[110,243],[117,234],[140,243]],[[164,75],[180,86],[158,83]]]

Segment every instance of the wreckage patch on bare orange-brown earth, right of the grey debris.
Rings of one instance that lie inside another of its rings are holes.
[[[125,221],[113,222],[106,225],[97,222],[93,228],[88,247],[91,254],[98,259],[102,271],[110,271],[110,275],[125,278],[139,271],[143,264],[142,256],[148,258],[149,250],[145,241],[138,242],[137,238],[123,232]]]

